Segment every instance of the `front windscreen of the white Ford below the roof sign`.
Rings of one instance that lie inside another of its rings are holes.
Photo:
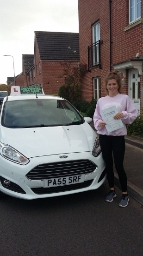
[[[7,128],[31,128],[78,125],[83,122],[83,117],[68,101],[29,99],[6,101],[1,124]]]

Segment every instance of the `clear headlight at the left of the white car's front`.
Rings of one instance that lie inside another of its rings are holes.
[[[25,165],[28,162],[30,162],[24,155],[19,153],[19,151],[1,142],[0,142],[0,155],[5,157],[7,160],[10,160],[12,162],[16,162],[22,165]]]

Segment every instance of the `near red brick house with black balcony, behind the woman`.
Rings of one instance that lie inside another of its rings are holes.
[[[82,97],[105,96],[104,78],[116,69],[122,93],[143,108],[143,1],[78,0],[78,7],[80,62],[88,65]]]

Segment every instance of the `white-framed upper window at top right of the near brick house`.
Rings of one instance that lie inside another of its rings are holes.
[[[141,18],[141,0],[129,0],[130,23]]]

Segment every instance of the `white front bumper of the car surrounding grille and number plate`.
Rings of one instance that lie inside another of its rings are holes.
[[[10,182],[16,184],[23,190],[25,193],[13,191],[10,188],[3,186],[3,179],[0,179],[0,191],[21,199],[37,199],[45,198],[59,195],[69,195],[74,193],[79,193],[87,190],[98,189],[106,179],[105,175],[105,163],[102,158],[102,154],[98,157],[94,157],[91,152],[81,152],[81,153],[72,153],[64,154],[68,158],[61,159],[61,155],[48,155],[48,156],[39,156],[30,158],[30,162],[25,165],[19,165],[14,162],[8,161],[0,155],[0,176]],[[93,162],[95,170],[91,173],[84,174],[84,182],[77,183],[73,185],[60,186],[55,189],[45,189],[44,180],[30,180],[26,176],[29,172],[38,165],[44,163],[63,163],[66,161],[75,161],[75,160],[89,160]],[[19,189],[20,191],[20,189]]]

